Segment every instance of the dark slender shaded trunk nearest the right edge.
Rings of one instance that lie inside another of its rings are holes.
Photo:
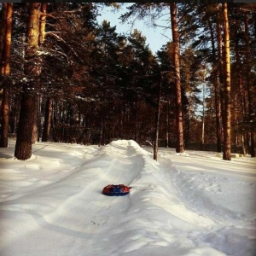
[[[250,56],[250,46],[249,46],[249,32],[248,32],[248,16],[247,13],[244,14],[244,25],[245,25],[245,43],[246,43],[246,70],[247,70],[247,100],[248,100],[248,123],[250,127],[250,137],[251,137],[251,147],[250,154],[255,157],[255,142],[254,142],[254,127],[253,127],[253,107],[252,107],[252,91],[251,91],[251,66],[252,60]]]

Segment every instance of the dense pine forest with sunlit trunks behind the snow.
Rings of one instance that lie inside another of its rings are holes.
[[[1,4],[0,147],[14,137],[27,160],[37,141],[132,139],[155,160],[159,146],[255,157],[256,3],[128,5],[123,22],[168,12],[172,40],[156,54],[136,27],[97,22],[120,6]]]

